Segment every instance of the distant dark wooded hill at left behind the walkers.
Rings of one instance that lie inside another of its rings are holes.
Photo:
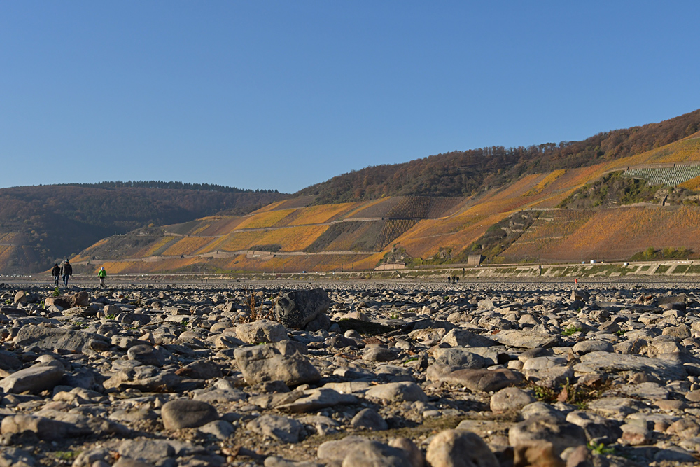
[[[163,182],[0,189],[0,273],[45,270],[104,237],[219,211],[246,214],[286,195]],[[168,188],[174,186],[176,188]]]

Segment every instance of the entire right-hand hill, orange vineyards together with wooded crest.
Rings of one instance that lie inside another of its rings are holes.
[[[110,237],[75,261],[143,274],[429,267],[475,253],[496,264],[699,258],[699,120],[368,167],[245,216]]]

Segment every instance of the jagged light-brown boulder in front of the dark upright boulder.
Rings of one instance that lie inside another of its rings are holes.
[[[248,384],[283,381],[288,386],[314,383],[321,379],[308,358],[300,351],[304,345],[291,340],[255,347],[239,347],[234,356]]]

